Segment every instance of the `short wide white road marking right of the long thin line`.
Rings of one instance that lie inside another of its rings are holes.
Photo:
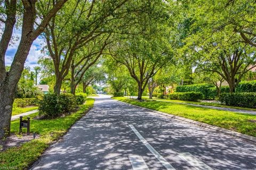
[[[178,153],[178,156],[186,160],[190,165],[194,166],[198,170],[213,170],[213,168],[206,165],[203,161],[199,160],[189,152]]]

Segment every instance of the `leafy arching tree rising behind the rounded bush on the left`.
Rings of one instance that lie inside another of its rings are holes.
[[[103,34],[124,34],[133,23],[127,15],[138,11],[138,6],[127,4],[127,0],[71,2],[44,31],[47,49],[54,63],[54,92],[57,94],[76,52]]]

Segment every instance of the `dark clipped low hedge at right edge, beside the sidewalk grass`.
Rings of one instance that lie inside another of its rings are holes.
[[[219,101],[227,106],[256,108],[256,93],[222,93]]]

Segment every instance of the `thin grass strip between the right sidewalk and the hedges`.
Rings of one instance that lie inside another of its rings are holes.
[[[151,99],[148,98],[148,96],[143,96],[142,98],[145,99],[145,100],[151,100]],[[222,107],[222,108],[233,108],[233,109],[256,111],[256,109],[252,109],[252,108],[233,107],[233,106],[227,106],[227,105],[223,105],[223,104],[219,104],[219,103],[193,102],[193,101],[158,99],[158,98],[153,98],[152,100],[163,101],[163,102],[167,101],[167,102],[178,102],[178,103],[189,103],[189,104],[201,104],[201,105],[204,105],[204,106],[215,106],[215,107]]]

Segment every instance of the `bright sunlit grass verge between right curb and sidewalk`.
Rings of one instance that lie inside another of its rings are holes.
[[[238,114],[231,111],[161,101],[139,102],[125,97],[113,99],[256,136],[256,115]],[[253,121],[255,122],[253,123]]]

